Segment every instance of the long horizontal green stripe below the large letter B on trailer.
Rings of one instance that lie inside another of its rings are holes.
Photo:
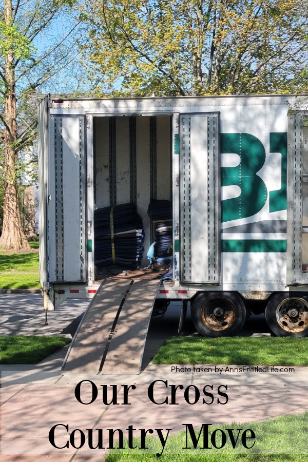
[[[286,252],[286,240],[222,239],[221,252]]]

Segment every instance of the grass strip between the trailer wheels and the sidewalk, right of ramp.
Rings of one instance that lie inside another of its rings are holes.
[[[308,365],[308,337],[172,337],[153,363],[303,366]]]

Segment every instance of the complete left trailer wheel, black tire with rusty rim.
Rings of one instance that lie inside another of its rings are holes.
[[[246,320],[243,300],[231,292],[202,292],[191,304],[191,319],[204,337],[238,334]]]

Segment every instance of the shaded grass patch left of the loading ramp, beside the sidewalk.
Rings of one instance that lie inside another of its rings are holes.
[[[68,343],[58,336],[0,337],[0,364],[36,364]]]

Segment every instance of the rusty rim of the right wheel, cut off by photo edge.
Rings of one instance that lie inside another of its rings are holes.
[[[276,311],[280,327],[290,333],[308,328],[308,303],[303,298],[288,298],[279,303]]]

